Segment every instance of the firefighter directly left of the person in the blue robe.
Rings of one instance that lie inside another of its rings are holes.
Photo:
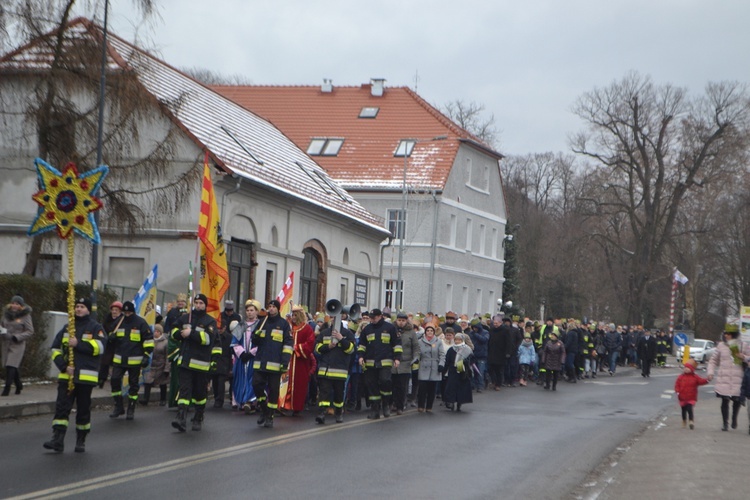
[[[206,410],[208,376],[221,355],[221,346],[216,345],[216,320],[206,312],[208,298],[199,293],[193,300],[192,315],[184,314],[172,328],[172,339],[180,344],[176,365],[179,369],[180,392],[177,396],[177,416],[172,427],[185,432],[188,406],[195,406],[194,431],[203,426]]]

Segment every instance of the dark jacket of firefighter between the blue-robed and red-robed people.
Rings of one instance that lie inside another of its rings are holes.
[[[261,327],[253,332],[253,345],[258,346],[253,370],[285,372],[294,351],[294,338],[289,323],[281,316],[266,316]]]

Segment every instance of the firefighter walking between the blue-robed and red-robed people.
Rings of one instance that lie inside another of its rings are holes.
[[[253,391],[258,398],[258,425],[273,427],[273,414],[279,408],[281,374],[289,369],[294,339],[286,319],[279,316],[281,303],[272,300],[260,328],[253,332],[253,345],[258,346],[253,360]],[[268,390],[266,391],[266,388]]]

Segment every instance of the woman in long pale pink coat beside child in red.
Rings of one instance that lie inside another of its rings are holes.
[[[714,382],[716,397],[721,399],[722,431],[729,430],[729,402],[732,402],[732,429],[737,428],[740,413],[740,389],[745,370],[742,363],[750,361],[750,344],[740,341],[738,325],[724,327],[724,341],[716,346],[716,352],[708,362],[708,381]]]

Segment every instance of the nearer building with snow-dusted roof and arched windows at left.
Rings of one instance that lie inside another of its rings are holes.
[[[19,272],[31,245],[25,231],[37,212],[31,195],[37,187],[33,159],[40,152],[37,125],[28,117],[38,108],[36,89],[49,74],[55,35],[0,57],[0,161],[7,169],[0,183],[0,273]],[[56,73],[65,79],[59,99],[77,111],[70,116],[80,121],[64,124],[72,131],[65,137],[83,169],[95,162],[96,148],[85,133],[90,123],[80,117],[97,109],[98,85],[91,83],[98,78],[76,79],[81,76],[76,74],[100,66],[102,39],[102,29],[86,19],[71,21],[62,32],[63,52],[69,57]],[[103,284],[137,289],[158,263],[160,290],[176,293],[187,287],[188,261],[196,250],[200,172],[208,154],[230,267],[227,299],[275,298],[295,272],[293,300],[312,311],[322,310],[331,296],[353,301],[355,283],[365,307],[377,305],[370,283],[379,280],[379,245],[388,236],[382,220],[267,120],[117,36],[109,35],[107,49],[107,96],[118,86],[132,85],[146,96],[147,105],[128,122],[128,132],[116,128],[125,119],[118,114],[123,106],[112,101],[105,106],[103,157],[113,168],[102,185],[98,275]],[[128,80],[131,75],[135,78]],[[129,134],[125,141],[117,146],[110,142],[123,133]],[[169,148],[168,164],[141,170],[138,177],[129,174],[129,166],[148,164],[153,144]],[[164,207],[174,202],[151,192],[164,179],[195,182],[197,188],[184,194],[184,210],[166,215]],[[112,189],[132,191],[128,201],[147,221],[143,231],[127,235],[108,223],[106,210],[113,207],[106,193]],[[45,257],[54,264],[50,276],[65,279],[63,245],[48,240]],[[89,276],[89,257],[88,251],[78,256],[81,281]]]

